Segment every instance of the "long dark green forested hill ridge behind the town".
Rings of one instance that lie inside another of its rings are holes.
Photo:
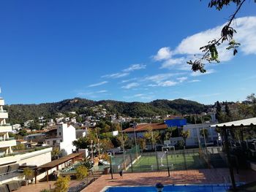
[[[152,117],[154,115],[179,115],[189,113],[205,112],[208,106],[184,99],[173,101],[161,99],[143,102],[123,102],[123,101],[92,101],[88,99],[66,99],[55,103],[45,104],[12,104],[5,106],[9,112],[10,123],[21,123],[25,120],[31,120],[44,116],[45,118],[56,117],[57,112],[75,111],[78,114],[88,113],[90,107],[96,107],[102,104],[102,107],[108,110],[109,114],[118,113],[129,117]]]

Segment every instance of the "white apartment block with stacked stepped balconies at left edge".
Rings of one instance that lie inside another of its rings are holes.
[[[12,126],[6,122],[8,112],[4,111],[4,99],[0,98],[0,156],[12,153],[12,147],[16,145],[14,138],[9,137]]]

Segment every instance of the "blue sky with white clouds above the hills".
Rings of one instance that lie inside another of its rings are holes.
[[[208,1],[1,1],[0,86],[7,104],[82,97],[241,101],[256,92],[256,4],[234,23],[233,57],[192,73],[186,61],[218,37],[235,7]]]

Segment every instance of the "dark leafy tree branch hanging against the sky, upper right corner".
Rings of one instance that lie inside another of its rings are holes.
[[[236,42],[233,39],[233,34],[236,33],[236,30],[231,27],[233,20],[236,18],[236,14],[241,9],[242,5],[244,4],[245,0],[211,0],[208,4],[208,7],[215,7],[217,10],[221,10],[224,6],[228,6],[231,3],[236,4],[236,11],[233,15],[230,15],[230,19],[227,21],[227,24],[222,28],[221,37],[219,39],[212,39],[208,42],[208,45],[200,47],[200,50],[203,52],[203,56],[195,61],[187,61],[187,64],[192,66],[192,70],[194,72],[200,71],[202,73],[206,72],[205,69],[205,62],[211,63],[213,61],[219,63],[219,53],[217,47],[222,45],[224,42],[228,42],[227,50],[233,50],[233,55],[238,53],[237,48],[239,47],[240,43]]]

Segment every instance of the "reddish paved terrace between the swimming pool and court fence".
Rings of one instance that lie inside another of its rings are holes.
[[[111,180],[110,174],[102,175],[91,183],[83,192],[99,192],[105,186],[121,185],[155,185],[162,184],[202,184],[202,183],[225,183],[223,177],[229,178],[228,169],[200,169],[188,171],[175,171],[167,177],[167,172],[144,172],[144,173],[124,173],[121,178],[119,174],[113,174]],[[256,179],[256,172],[251,170],[240,171],[235,175],[236,182],[252,182]]]

